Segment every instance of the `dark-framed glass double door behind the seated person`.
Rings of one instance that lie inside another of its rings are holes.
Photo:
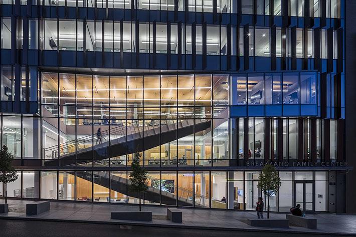
[[[314,212],[313,181],[295,181],[294,206],[300,204],[302,212]]]

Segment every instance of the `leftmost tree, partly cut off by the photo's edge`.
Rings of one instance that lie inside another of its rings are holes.
[[[7,146],[0,150],[0,182],[5,184],[5,203],[8,203],[7,184],[18,179],[17,172],[13,166],[14,156],[8,151]]]

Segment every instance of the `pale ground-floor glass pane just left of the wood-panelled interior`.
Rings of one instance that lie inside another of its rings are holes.
[[[57,172],[41,172],[41,198],[57,199]]]

